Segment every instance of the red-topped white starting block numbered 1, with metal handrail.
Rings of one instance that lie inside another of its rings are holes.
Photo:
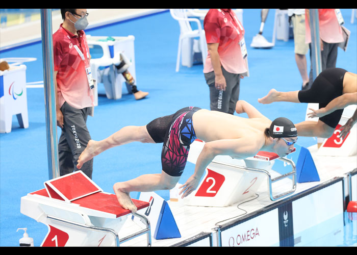
[[[103,192],[82,171],[44,183],[45,188],[21,197],[21,213],[48,226],[41,246],[119,246],[146,234],[151,245],[150,223],[139,214],[148,202],[132,199],[137,213],[123,209],[116,195]],[[145,228],[119,240],[127,216],[134,215]]]

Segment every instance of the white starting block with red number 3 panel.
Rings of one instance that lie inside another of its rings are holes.
[[[309,108],[319,109],[319,104],[308,104],[308,108],[306,114],[311,112]],[[317,155],[319,156],[354,156],[357,152],[357,126],[353,125],[349,134],[345,137],[345,139],[339,138],[341,131],[339,128],[346,124],[347,120],[352,117],[354,111],[357,109],[356,105],[351,105],[346,107],[343,110],[341,120],[339,124],[336,126],[334,134],[328,138],[324,139],[322,145],[317,150]],[[305,117],[305,120],[313,120],[317,121],[318,118],[308,118]]]

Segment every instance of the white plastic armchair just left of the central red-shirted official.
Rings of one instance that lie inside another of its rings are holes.
[[[202,25],[197,18],[188,18],[187,9],[170,9],[171,16],[179,21],[180,25],[180,37],[179,37],[179,49],[177,50],[177,60],[176,60],[176,72],[180,69],[181,55],[189,56],[188,63],[185,64],[188,67],[192,66],[193,60],[193,39],[199,37],[199,47],[202,54],[202,62],[205,65],[207,57],[207,43],[205,37],[205,30],[202,29]],[[192,30],[190,21],[196,22],[198,29]],[[186,47],[184,47],[184,40],[188,41]],[[183,57],[184,59],[184,57]]]

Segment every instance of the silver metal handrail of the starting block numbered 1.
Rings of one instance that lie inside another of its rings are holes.
[[[115,230],[112,230],[112,228],[89,226],[89,225],[86,225],[86,224],[81,224],[81,223],[78,223],[78,222],[65,220],[65,219],[61,219],[61,218],[58,218],[58,217],[55,217],[55,216],[50,216],[50,215],[47,215],[47,219],[59,221],[59,222],[62,222],[62,223],[66,223],[66,224],[69,224],[69,225],[74,225],[74,226],[78,226],[78,227],[82,227],[82,228],[87,228],[87,229],[89,229],[91,231],[110,233],[110,234],[112,234],[114,236],[114,238],[115,238],[115,246],[117,246],[117,247],[119,247],[120,244],[123,243],[123,242],[129,241],[129,240],[131,240],[131,239],[133,239],[135,237],[138,237],[138,236],[141,236],[143,234],[146,234],[147,246],[151,246],[151,230],[150,230],[150,222],[149,222],[149,220],[145,216],[143,216],[141,214],[138,214],[138,213],[132,213],[132,214],[134,216],[136,216],[136,217],[139,217],[145,223],[146,228],[144,228],[143,230],[138,231],[136,233],[133,233],[133,234],[131,234],[129,236],[123,237],[120,240],[119,240],[118,233]]]

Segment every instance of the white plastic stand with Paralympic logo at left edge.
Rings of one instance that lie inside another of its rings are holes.
[[[25,65],[0,71],[0,133],[11,132],[13,115],[21,127],[29,127]]]

